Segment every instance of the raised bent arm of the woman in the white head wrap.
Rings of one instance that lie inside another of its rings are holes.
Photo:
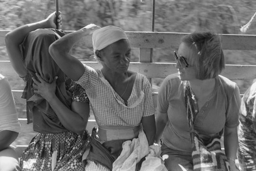
[[[94,24],[87,25],[80,30],[59,38],[49,47],[49,53],[53,60],[57,63],[59,68],[74,81],[77,81],[83,75],[84,66],[77,58],[69,54],[69,52],[82,37],[91,35],[93,31],[98,28],[100,27]]]

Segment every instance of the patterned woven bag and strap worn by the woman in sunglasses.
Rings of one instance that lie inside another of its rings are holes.
[[[221,135],[223,130],[212,137],[208,144],[204,144],[199,134],[194,130],[195,112],[193,108],[192,93],[189,82],[184,83],[184,97],[187,111],[187,120],[190,128],[190,137],[192,142],[192,158],[194,171],[210,171],[210,170],[230,170],[230,166],[226,155],[221,150]]]

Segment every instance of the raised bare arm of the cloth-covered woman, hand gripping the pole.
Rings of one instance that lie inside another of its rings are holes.
[[[59,15],[58,17],[58,24],[61,25],[61,16]],[[26,35],[31,31],[40,28],[56,28],[56,24],[54,23],[55,18],[56,15],[54,12],[40,22],[20,26],[6,34],[5,44],[7,53],[14,70],[20,77],[26,76],[28,71],[23,65],[22,53],[19,49],[19,45],[22,44]]]

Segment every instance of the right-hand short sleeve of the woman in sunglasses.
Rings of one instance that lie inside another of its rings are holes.
[[[226,123],[227,127],[236,127],[239,124],[239,112],[241,105],[240,91],[236,84],[234,91],[228,96],[228,108],[226,113]]]

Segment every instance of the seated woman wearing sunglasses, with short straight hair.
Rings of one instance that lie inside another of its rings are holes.
[[[161,155],[168,156],[165,166],[193,170],[183,88],[188,81],[195,96],[195,130],[207,142],[224,128],[225,154],[231,170],[236,170],[240,92],[236,83],[219,75],[225,67],[220,37],[211,32],[188,34],[181,39],[175,59],[178,75],[167,76],[158,93],[156,141],[162,139]]]

